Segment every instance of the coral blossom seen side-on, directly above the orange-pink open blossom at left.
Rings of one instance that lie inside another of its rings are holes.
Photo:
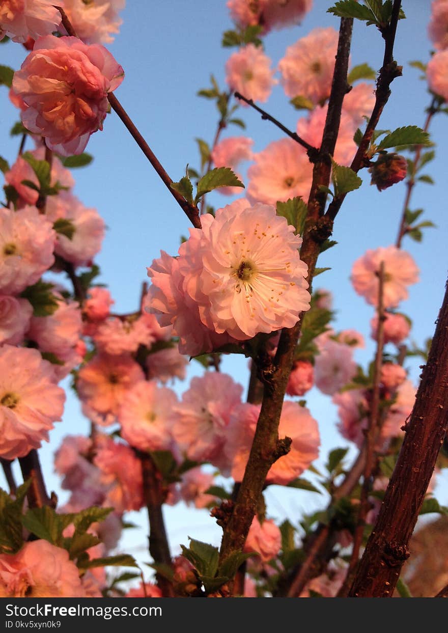
[[[92,338],[100,351],[113,356],[135,352],[139,345],[151,346],[154,342],[144,320],[117,316],[109,316],[99,323]]]

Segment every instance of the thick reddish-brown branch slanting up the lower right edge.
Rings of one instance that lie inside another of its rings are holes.
[[[406,435],[349,596],[390,597],[448,426],[448,284]]]

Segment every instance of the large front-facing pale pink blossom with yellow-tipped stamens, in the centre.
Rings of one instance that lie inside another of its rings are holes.
[[[263,204],[236,213],[228,205],[202,231],[190,229],[178,263],[185,291],[203,306],[202,322],[238,341],[293,327],[310,299],[301,242],[285,218]]]

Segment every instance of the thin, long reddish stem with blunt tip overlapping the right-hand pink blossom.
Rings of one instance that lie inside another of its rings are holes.
[[[356,567],[358,566],[359,549],[363,544],[364,529],[366,527],[366,516],[369,511],[369,494],[372,487],[372,475],[373,468],[376,461],[376,430],[378,429],[380,420],[380,378],[381,368],[383,364],[383,347],[384,347],[384,306],[383,306],[383,288],[384,288],[384,262],[380,263],[380,270],[378,272],[378,308],[376,313],[378,315],[378,333],[376,335],[376,354],[375,365],[373,370],[373,392],[370,404],[370,416],[368,421],[368,427],[366,432],[366,461],[364,464],[363,473],[363,486],[361,487],[361,497],[359,499],[359,513],[358,521],[356,524],[352,553],[349,561],[349,567],[345,575],[342,587],[338,592],[339,598],[345,598],[349,592],[350,587],[354,579]]]

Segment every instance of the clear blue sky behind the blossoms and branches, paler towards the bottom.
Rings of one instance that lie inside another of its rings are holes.
[[[301,26],[273,32],[266,37],[265,49],[273,65],[285,54],[287,46],[313,28],[339,27],[337,18],[326,13],[330,4],[314,0],[315,7]],[[392,84],[392,96],[380,128],[423,126],[424,109],[430,102],[426,84],[419,79],[420,71],[409,66],[411,60],[425,63],[429,58],[431,46],[426,37],[426,24],[430,2],[408,0],[403,6],[408,19],[399,23],[395,45],[395,59],[403,66],[403,76]],[[115,95],[171,178],[178,180],[184,175],[187,163],[192,167],[199,166],[194,139],[201,137],[211,142],[215,134],[218,122],[216,108],[210,101],[197,97],[196,92],[209,86],[210,73],[215,75],[221,87],[225,87],[223,66],[232,53],[232,49],[220,46],[222,32],[232,28],[225,2],[166,0],[147,3],[146,0],[133,0],[127,3],[121,15],[121,32],[115,42],[108,45],[125,70],[125,79]],[[23,53],[18,44],[1,46],[0,63],[18,68],[23,61]],[[367,62],[378,70],[382,58],[382,39],[375,27],[356,22],[352,66]],[[12,163],[18,139],[10,139],[8,131],[17,116],[8,102],[5,89],[0,88],[0,91],[0,154]],[[289,105],[280,84],[275,86],[270,100],[263,107],[288,127],[296,128],[299,113]],[[260,151],[270,141],[280,138],[276,128],[263,122],[249,108],[240,108],[237,116],[246,122],[246,134],[254,139],[254,151]],[[431,128],[436,141],[446,137],[446,126],[446,116],[439,115]],[[240,129],[233,127],[225,130],[223,137],[239,134]],[[446,150],[443,144],[436,145],[435,149],[436,159],[427,170],[435,185],[418,185],[411,208],[424,208],[423,219],[432,220],[438,228],[426,229],[421,244],[409,239],[403,244],[420,268],[420,284],[409,289],[408,301],[401,304],[401,310],[413,319],[412,338],[420,346],[426,337],[433,334],[447,273],[445,239],[442,239],[446,237],[448,228],[444,196]],[[87,151],[94,155],[94,162],[88,168],[73,170],[73,176],[77,196],[87,206],[96,207],[108,225],[103,250],[96,258],[102,271],[99,281],[108,284],[116,302],[115,311],[132,311],[137,307],[141,285],[147,280],[146,266],[159,256],[160,249],[177,253],[180,235],[187,234],[189,222],[114,113],[106,118],[104,131],[92,135]],[[353,261],[366,249],[394,243],[405,187],[398,184],[378,192],[376,187],[369,186],[370,178],[366,172],[361,173],[361,177],[365,178],[363,186],[347,196],[337,216],[333,231],[337,246],[319,260],[320,266],[332,266],[332,270],[318,277],[315,287],[325,287],[333,292],[336,329],[354,328],[363,333],[366,349],[357,351],[356,359],[365,366],[374,353],[368,325],[373,312],[354,293],[349,274]],[[209,194],[208,201],[218,207],[227,204],[229,199],[213,193]],[[420,374],[420,362],[409,359],[406,363],[414,382]],[[194,361],[190,365],[190,376],[202,372]],[[246,387],[246,360],[225,358],[223,370]],[[176,385],[179,393],[185,388],[184,384]],[[347,442],[335,432],[336,415],[330,398],[321,396],[314,389],[308,396],[311,413],[320,422],[323,461],[328,449]],[[66,493],[59,491],[59,480],[52,472],[53,451],[65,434],[84,433],[86,430],[87,422],[80,415],[77,401],[69,393],[63,423],[56,424],[51,433],[51,443],[41,451],[49,487],[60,493],[61,501]],[[437,496],[441,503],[448,503],[444,477],[441,482]],[[302,508],[308,511],[320,503],[312,493],[282,491],[278,486],[268,491],[267,500],[270,515],[278,518],[289,516],[292,521],[299,518]],[[215,544],[220,542],[220,529],[204,510],[187,511],[181,504],[166,508],[165,516],[173,551],[177,551],[179,542],[187,543],[187,535]],[[132,550],[142,561],[148,560],[145,554],[144,511],[139,515],[132,513],[130,520],[144,527],[128,531],[123,549]]]

